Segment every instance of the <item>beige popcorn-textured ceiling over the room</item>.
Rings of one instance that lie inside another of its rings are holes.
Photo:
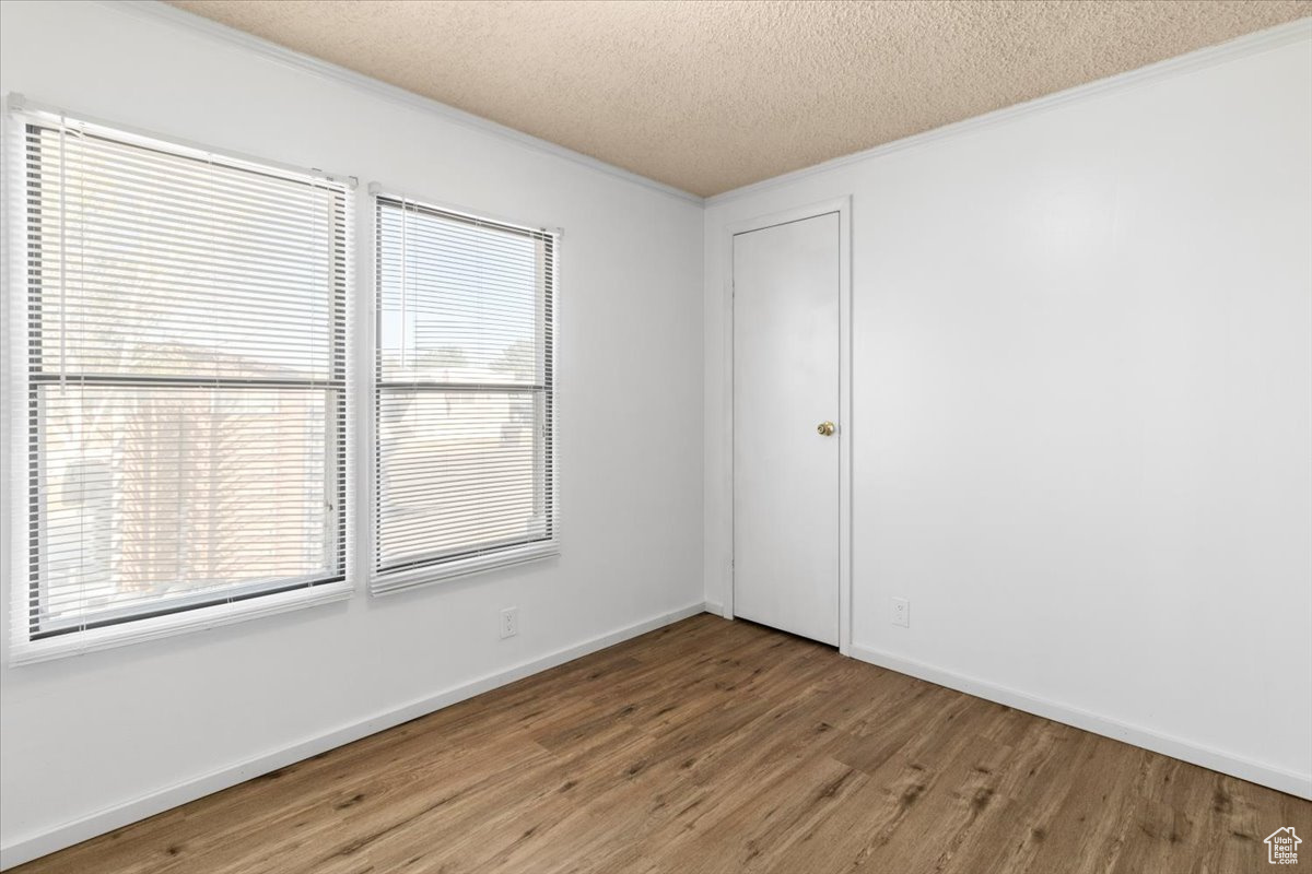
[[[1312,16],[1312,0],[173,5],[699,195]]]

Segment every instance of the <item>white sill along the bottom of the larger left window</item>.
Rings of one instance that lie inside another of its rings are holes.
[[[232,625],[234,622],[244,622],[262,616],[274,616],[306,607],[329,604],[350,598],[354,591],[354,586],[349,582],[324,583],[311,588],[297,588],[289,592],[251,598],[232,604],[202,607],[194,611],[156,616],[109,628],[73,632],[41,641],[16,641],[9,650],[9,667],[49,662],[68,655],[94,653],[97,650],[109,650],[163,637],[203,632],[205,629],[220,625]]]

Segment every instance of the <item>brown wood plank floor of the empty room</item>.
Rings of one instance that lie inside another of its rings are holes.
[[[1312,803],[707,615],[22,874],[1298,870]]]

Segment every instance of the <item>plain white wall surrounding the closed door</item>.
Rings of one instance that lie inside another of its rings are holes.
[[[1307,25],[710,200],[707,600],[724,225],[850,194],[854,654],[1312,797]]]

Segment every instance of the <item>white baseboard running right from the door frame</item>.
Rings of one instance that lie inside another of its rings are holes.
[[[851,656],[888,668],[890,671],[897,671],[899,674],[907,674],[921,680],[937,683],[938,685],[946,685],[949,689],[974,694],[977,698],[1004,704],[1017,710],[1025,710],[1026,713],[1033,713],[1055,722],[1075,726],[1076,729],[1101,734],[1105,738],[1113,738],[1114,740],[1122,740],[1136,747],[1143,747],[1144,750],[1160,752],[1172,759],[1179,759],[1181,761],[1219,770],[1223,774],[1239,777],[1240,780],[1270,786],[1271,789],[1278,789],[1299,798],[1312,799],[1312,774],[1300,774],[1295,770],[1263,765],[1250,759],[1212,750],[1211,747],[1204,747],[1190,740],[1164,735],[1140,726],[1126,725],[1124,722],[1099,717],[1080,708],[1048,701],[1027,692],[1019,692],[964,674],[905,659],[861,643],[853,643]]]

